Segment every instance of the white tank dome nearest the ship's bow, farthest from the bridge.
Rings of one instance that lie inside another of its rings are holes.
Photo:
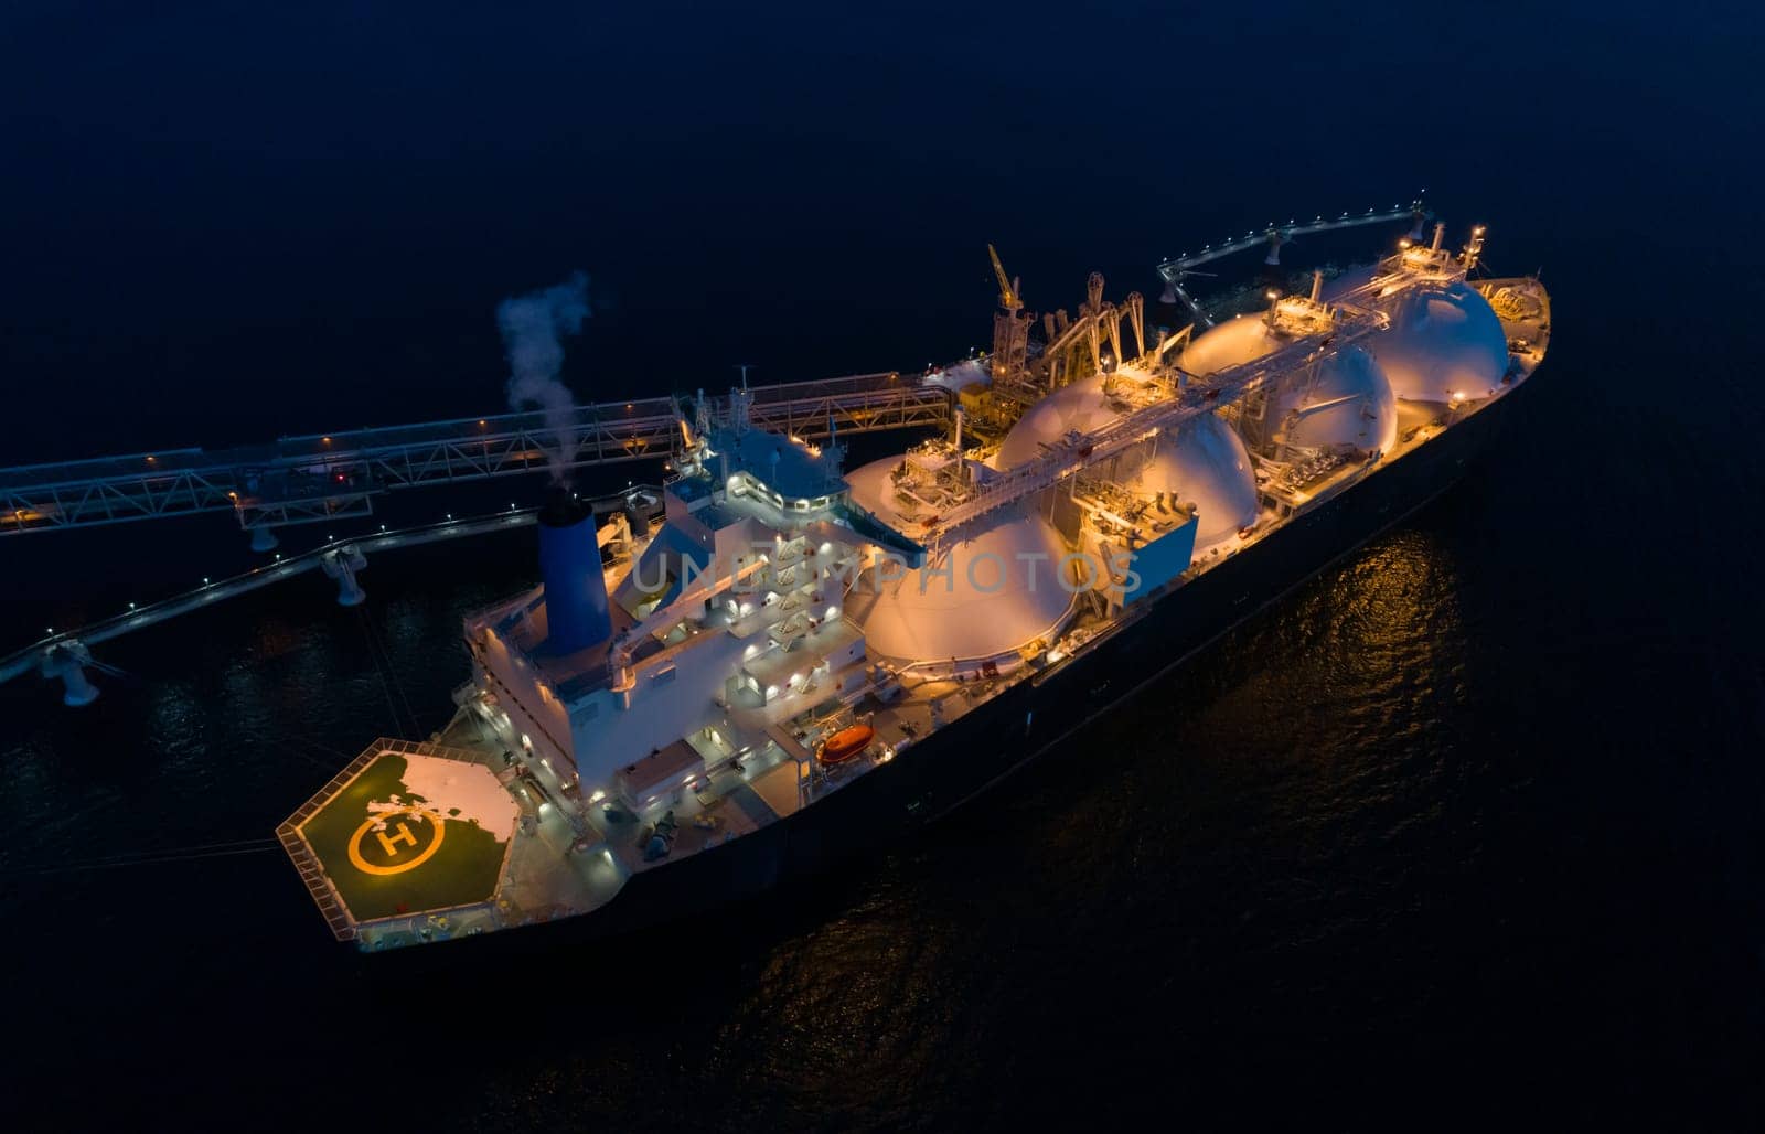
[[[1507,334],[1490,300],[1454,283],[1407,299],[1373,339],[1373,357],[1405,401],[1484,397],[1507,373]]]

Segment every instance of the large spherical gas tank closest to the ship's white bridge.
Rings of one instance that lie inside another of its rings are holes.
[[[888,523],[898,519],[888,457],[845,477],[852,500]],[[845,613],[865,631],[874,655],[893,661],[994,659],[1048,638],[1077,597],[1061,583],[1066,546],[1047,519],[1003,509],[948,548],[939,563],[909,571],[900,562],[865,571],[845,597]]]

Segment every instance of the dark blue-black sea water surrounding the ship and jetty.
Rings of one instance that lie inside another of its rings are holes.
[[[362,975],[235,851],[447,719],[528,537],[106,643],[81,712],[0,687],[14,1108],[1760,1118],[1751,9],[605,7],[9,7],[0,465],[494,410],[496,300],[572,268],[581,396],[715,389],[983,343],[987,240],[1071,307],[1419,185],[1544,265],[1551,355],[1454,493],[980,805],[522,968]],[[245,562],[224,519],[4,541],[0,648]],[[143,851],[184,857],[108,864]]]

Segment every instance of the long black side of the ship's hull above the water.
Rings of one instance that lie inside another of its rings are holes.
[[[971,708],[805,811],[635,874],[618,897],[591,913],[390,952],[436,954],[434,959],[452,964],[480,952],[528,952],[628,934],[755,897],[874,851],[974,798],[1440,496],[1488,447],[1518,394],[1514,389],[1481,406],[1239,555],[1153,599],[1138,618]]]

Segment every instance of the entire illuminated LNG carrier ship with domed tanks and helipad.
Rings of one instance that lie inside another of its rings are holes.
[[[900,380],[950,427],[851,470],[745,389],[683,403],[655,498],[552,491],[540,585],[464,620],[448,728],[369,744],[277,835],[339,940],[454,950],[655,924],[941,816],[1460,477],[1550,334],[1481,253],[1417,223],[1151,336],[1098,276],[1027,313],[994,256],[992,350]]]

